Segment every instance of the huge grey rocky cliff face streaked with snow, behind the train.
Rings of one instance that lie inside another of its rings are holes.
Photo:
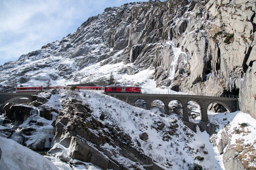
[[[239,95],[241,111],[256,118],[255,8],[253,0],[150,0],[106,8],[75,33],[1,66],[1,87],[101,81],[109,75],[90,66],[123,63],[119,73],[154,69],[158,87]]]

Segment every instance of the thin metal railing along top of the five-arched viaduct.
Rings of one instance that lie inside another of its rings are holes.
[[[216,97],[215,94],[197,94],[197,93],[186,93],[186,92],[174,92],[174,91],[142,91],[142,94],[159,94],[159,95],[195,95],[195,96],[213,96]],[[239,98],[236,95],[221,95],[218,97],[228,97],[228,98]]]

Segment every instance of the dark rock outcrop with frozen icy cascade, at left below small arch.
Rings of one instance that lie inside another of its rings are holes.
[[[14,103],[2,104],[0,111],[4,113],[4,119],[1,124],[11,128],[1,130],[0,135],[33,150],[51,148],[55,134],[52,123],[58,110],[45,103],[48,101],[46,98],[49,99],[52,94],[53,91],[49,91],[43,94],[45,97],[31,96],[30,104],[39,102],[39,107]]]

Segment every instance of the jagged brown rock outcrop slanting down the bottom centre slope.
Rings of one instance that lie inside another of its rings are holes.
[[[162,169],[139,148],[133,148],[134,143],[128,134],[118,127],[102,124],[81,101],[72,99],[62,105],[63,110],[55,122],[55,145],[49,153],[55,154],[65,162],[79,159],[102,169],[136,168],[136,162],[145,169]],[[106,145],[113,149],[103,147]],[[120,162],[120,156],[126,158],[129,165]]]

